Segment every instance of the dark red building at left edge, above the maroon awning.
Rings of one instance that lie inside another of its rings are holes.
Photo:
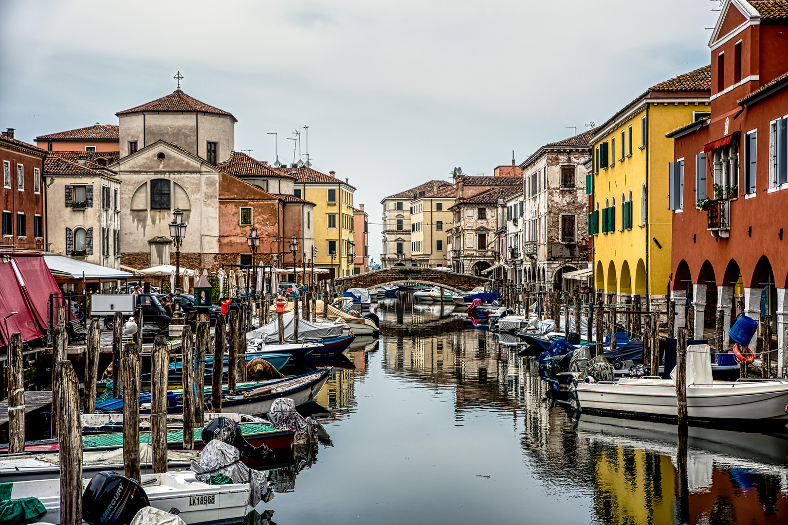
[[[46,151],[13,138],[9,128],[0,135],[3,183],[0,250],[44,250],[44,184]]]

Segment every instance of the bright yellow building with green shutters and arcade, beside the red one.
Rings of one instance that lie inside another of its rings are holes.
[[[674,156],[665,134],[709,115],[710,88],[710,66],[656,84],[593,135],[589,235],[598,292],[621,301],[642,294],[643,305],[667,301]]]

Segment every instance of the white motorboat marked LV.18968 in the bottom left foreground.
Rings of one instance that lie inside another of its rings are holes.
[[[151,507],[170,512],[180,511],[186,523],[236,523],[247,514],[251,486],[249,483],[208,485],[199,482],[194,472],[143,474],[140,480]],[[83,479],[83,491],[90,479]],[[60,523],[60,479],[36,479],[13,482],[11,498],[37,497],[46,508],[41,519]]]

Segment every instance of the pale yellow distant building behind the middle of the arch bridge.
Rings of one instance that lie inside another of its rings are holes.
[[[454,184],[411,201],[411,261],[421,268],[448,264],[446,232],[452,227]]]

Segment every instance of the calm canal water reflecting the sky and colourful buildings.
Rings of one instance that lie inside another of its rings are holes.
[[[373,310],[312,407],[317,455],[270,473],[278,525],[788,523],[788,433],[690,428],[682,490],[675,426],[571,420],[533,352],[453,305]]]

